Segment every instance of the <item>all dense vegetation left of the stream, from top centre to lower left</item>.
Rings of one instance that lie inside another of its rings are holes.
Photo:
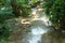
[[[0,40],[9,38],[11,31],[4,22],[18,16],[29,17],[31,8],[36,8],[38,0],[0,0]]]

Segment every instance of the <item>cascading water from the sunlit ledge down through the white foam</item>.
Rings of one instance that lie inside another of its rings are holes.
[[[31,10],[34,15],[38,12],[37,9]],[[43,15],[44,14],[38,18],[34,18],[34,24],[30,27],[30,32],[26,32],[27,34],[23,38],[22,43],[41,43],[42,34],[50,30],[46,26],[48,18],[46,18]]]

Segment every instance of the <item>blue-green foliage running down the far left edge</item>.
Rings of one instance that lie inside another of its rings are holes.
[[[10,0],[0,0],[0,41],[9,40],[11,31],[4,20],[15,16],[12,12]]]

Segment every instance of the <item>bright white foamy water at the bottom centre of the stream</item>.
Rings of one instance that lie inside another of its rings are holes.
[[[43,30],[42,28],[34,28],[31,29],[31,39],[29,40],[29,43],[41,43],[41,37],[43,33],[46,33],[48,30]]]

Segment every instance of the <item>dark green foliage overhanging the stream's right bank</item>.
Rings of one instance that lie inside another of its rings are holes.
[[[65,0],[46,0],[46,14],[57,28],[65,28]]]

